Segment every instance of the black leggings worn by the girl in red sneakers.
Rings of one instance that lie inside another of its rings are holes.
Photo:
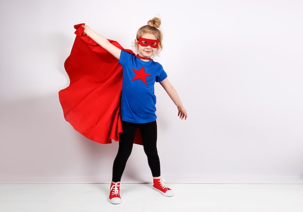
[[[156,121],[135,124],[122,121],[123,133],[120,134],[119,150],[113,165],[113,182],[120,182],[128,157],[131,155],[136,129],[140,129],[144,152],[153,177],[160,176],[160,161],[157,152],[157,123]]]

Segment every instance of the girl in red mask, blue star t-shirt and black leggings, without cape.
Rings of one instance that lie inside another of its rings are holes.
[[[172,190],[164,184],[160,177],[160,161],[157,153],[157,125],[155,115],[156,98],[154,95],[154,83],[159,82],[166,90],[178,108],[178,116],[187,118],[187,113],[175,90],[167,79],[167,74],[162,65],[152,60],[152,56],[161,51],[162,32],[158,29],[161,20],[154,17],[138,29],[135,46],[138,54],[127,53],[106,38],[94,32],[88,26],[83,26],[84,34],[101,45],[110,54],[119,60],[123,67],[123,81],[121,93],[121,121],[122,130],[120,134],[119,150],[113,164],[112,183],[110,185],[109,201],[112,204],[121,203],[120,181],[128,157],[133,148],[137,128],[140,130],[144,152],[153,176],[153,188],[164,196],[174,195]]]

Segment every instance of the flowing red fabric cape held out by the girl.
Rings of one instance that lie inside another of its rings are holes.
[[[122,66],[90,37],[83,35],[84,24],[78,24],[76,39],[64,63],[70,85],[59,91],[64,118],[85,137],[99,143],[119,141],[122,132],[120,103]],[[109,40],[125,50],[116,42]],[[135,143],[142,144],[137,130]]]

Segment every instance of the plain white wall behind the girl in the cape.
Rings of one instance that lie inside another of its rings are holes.
[[[0,0],[0,183],[105,183],[118,143],[65,122],[58,91],[86,23],[125,48],[160,14],[156,58],[187,109],[160,85],[162,176],[175,183],[303,183],[303,1]],[[141,146],[123,182],[150,182]]]

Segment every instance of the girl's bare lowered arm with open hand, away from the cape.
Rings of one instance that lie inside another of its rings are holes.
[[[178,95],[176,89],[170,84],[170,82],[168,81],[167,78],[165,80],[161,81],[160,85],[162,85],[162,87],[165,89],[165,91],[167,92],[167,94],[170,97],[170,99],[178,107],[178,116],[181,119],[184,118],[186,120],[187,113],[186,113],[185,108],[182,105],[181,99],[179,98],[179,95]]]

